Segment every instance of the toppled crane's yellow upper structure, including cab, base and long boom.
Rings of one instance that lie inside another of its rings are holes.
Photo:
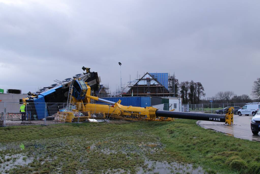
[[[112,102],[91,96],[91,88],[81,78],[74,78],[69,88],[67,109],[59,111],[61,122],[83,122],[92,118],[113,118],[125,120],[173,121],[173,118],[205,120],[233,124],[233,110],[229,109],[226,115],[188,113],[176,111],[162,111],[153,107],[133,107],[121,105],[121,100]],[[92,100],[104,102],[93,104]],[[107,105],[107,104],[109,105]],[[75,115],[80,113],[80,115]]]

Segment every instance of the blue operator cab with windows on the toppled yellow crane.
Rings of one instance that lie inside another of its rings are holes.
[[[77,100],[83,100],[87,93],[87,85],[81,79],[74,79],[73,80],[73,92],[72,96],[75,97]]]

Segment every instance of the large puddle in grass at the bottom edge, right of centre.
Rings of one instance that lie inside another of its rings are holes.
[[[167,163],[167,162],[158,162],[146,160],[146,168],[140,168],[137,172],[138,174],[142,173],[194,173],[194,174],[203,174],[205,171],[201,167],[193,168],[192,164],[179,164],[176,162]]]

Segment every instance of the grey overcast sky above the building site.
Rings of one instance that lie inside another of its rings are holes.
[[[35,92],[98,72],[112,91],[144,72],[201,82],[206,97],[251,94],[260,1],[0,0],[0,88]]]

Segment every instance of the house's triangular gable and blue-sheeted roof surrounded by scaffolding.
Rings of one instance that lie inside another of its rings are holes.
[[[138,75],[137,75],[138,76]],[[145,73],[141,78],[128,82],[122,96],[150,95],[156,97],[174,96],[168,73]],[[169,85],[170,84],[170,85]]]

